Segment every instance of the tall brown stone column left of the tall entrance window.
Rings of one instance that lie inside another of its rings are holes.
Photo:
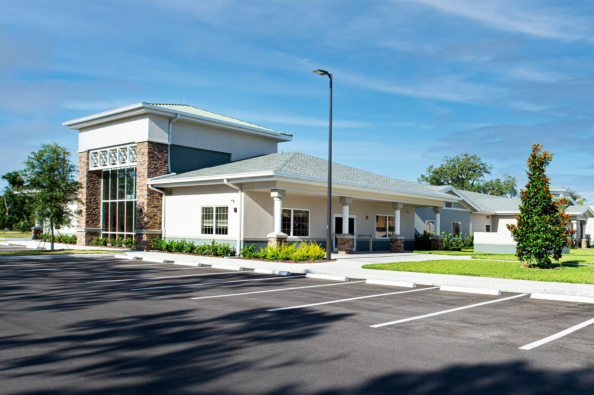
[[[89,246],[101,235],[101,171],[89,170],[89,151],[78,152],[78,228],[76,243]]]

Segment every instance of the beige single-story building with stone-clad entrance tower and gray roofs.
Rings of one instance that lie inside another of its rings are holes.
[[[138,103],[64,125],[79,133],[78,244],[121,236],[137,249],[155,237],[326,248],[327,161],[279,153],[291,135],[178,104]],[[442,231],[503,235],[519,205],[336,163],[332,190],[331,248],[340,253],[412,250],[425,230],[436,248]]]

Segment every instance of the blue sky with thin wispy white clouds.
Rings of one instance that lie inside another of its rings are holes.
[[[182,103],[292,133],[279,150],[416,180],[477,154],[594,203],[594,4],[588,1],[19,1],[0,5],[0,173],[66,120]],[[2,184],[1,186],[4,186]]]

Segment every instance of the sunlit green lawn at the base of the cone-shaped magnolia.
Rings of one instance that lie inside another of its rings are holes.
[[[362,267],[364,269],[399,270],[402,272],[594,284],[594,266],[561,264],[554,269],[536,269],[511,261],[444,259],[421,262],[374,263]]]

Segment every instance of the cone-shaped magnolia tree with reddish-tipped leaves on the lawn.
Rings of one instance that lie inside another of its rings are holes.
[[[551,256],[559,261],[563,247],[576,232],[568,228],[569,215],[560,209],[566,205],[565,198],[555,200],[549,191],[545,168],[552,157],[553,154],[542,151],[542,144],[532,146],[532,154],[526,160],[528,183],[526,189],[520,190],[522,204],[520,214],[516,214],[517,224],[507,225],[517,243],[520,262],[542,268],[551,267]]]

